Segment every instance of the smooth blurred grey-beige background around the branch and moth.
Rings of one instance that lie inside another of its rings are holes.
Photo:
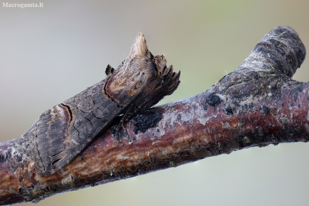
[[[272,28],[309,48],[308,0],[7,0],[0,5],[0,141],[105,77],[138,32],[181,70],[159,104],[196,95],[235,70]],[[309,81],[309,59],[293,77]],[[308,206],[309,143],[251,148],[47,198],[37,206]],[[30,206],[32,203],[24,203]]]

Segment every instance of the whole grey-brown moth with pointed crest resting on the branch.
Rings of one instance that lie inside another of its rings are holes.
[[[166,66],[163,55],[154,56],[139,33],[129,56],[106,78],[81,93],[48,109],[23,136],[40,175],[50,175],[76,157],[100,131],[121,116],[115,141],[123,124],[178,87],[180,71]]]

